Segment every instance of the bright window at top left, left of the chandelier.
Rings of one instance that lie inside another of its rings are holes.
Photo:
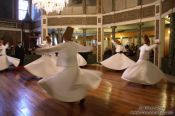
[[[28,0],[18,0],[18,19],[23,20],[28,10]]]

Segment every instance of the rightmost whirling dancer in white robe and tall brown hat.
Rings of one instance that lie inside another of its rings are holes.
[[[158,46],[159,42],[150,45],[148,35],[144,35],[144,45],[140,47],[140,56],[136,64],[130,66],[122,75],[122,79],[145,85],[158,83],[165,77],[157,66],[149,61],[149,52]]]

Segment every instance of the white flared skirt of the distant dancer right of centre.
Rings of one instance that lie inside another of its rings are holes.
[[[135,62],[125,56],[123,53],[117,53],[110,58],[101,62],[104,67],[113,70],[123,70],[128,68],[131,65],[134,65]]]

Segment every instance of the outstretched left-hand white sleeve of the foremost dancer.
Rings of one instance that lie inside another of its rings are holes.
[[[58,44],[57,46],[53,46],[53,47],[38,48],[35,50],[35,53],[40,55],[45,53],[53,53],[63,49],[63,47],[64,47],[63,44]]]

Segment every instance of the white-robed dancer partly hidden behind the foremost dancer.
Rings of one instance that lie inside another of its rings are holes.
[[[46,44],[39,45],[41,48],[49,48],[52,47],[52,41],[49,36],[46,36]],[[86,52],[86,51],[81,51]],[[35,75],[36,77],[40,78],[47,78],[55,74],[57,71],[57,60],[59,60],[60,55],[55,55],[55,52],[42,54],[40,58],[37,60],[25,65],[25,69],[30,72],[31,74]],[[77,61],[78,66],[85,66],[87,65],[86,60],[77,53]],[[42,66],[37,68],[38,66]],[[52,67],[52,68],[49,68]]]

